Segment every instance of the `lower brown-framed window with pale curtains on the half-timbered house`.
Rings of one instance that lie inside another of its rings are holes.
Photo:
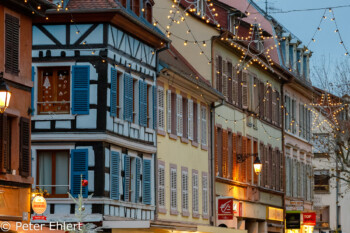
[[[65,197],[69,191],[69,151],[37,152],[37,188],[50,197]]]

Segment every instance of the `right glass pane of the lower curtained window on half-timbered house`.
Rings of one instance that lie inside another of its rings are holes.
[[[68,151],[56,152],[56,194],[67,194],[68,192],[68,172],[69,167],[69,153]]]

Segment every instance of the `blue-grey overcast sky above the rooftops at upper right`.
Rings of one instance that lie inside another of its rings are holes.
[[[265,0],[254,1],[265,9]],[[268,0],[268,3],[269,6],[288,11],[350,5],[350,0]],[[343,42],[350,52],[350,7],[335,8],[333,11]],[[317,29],[323,13],[324,10],[316,10],[291,13],[271,12],[271,15],[302,40],[303,44],[307,45]],[[334,21],[331,21],[332,13],[328,10],[326,11],[326,17],[320,26],[321,31],[316,33],[316,42],[311,42],[309,45],[309,49],[313,51],[311,66],[319,64],[322,57],[326,57],[331,61],[346,58],[345,50],[339,44],[338,34],[334,32],[336,27]],[[347,59],[350,59],[350,56],[347,56]]]

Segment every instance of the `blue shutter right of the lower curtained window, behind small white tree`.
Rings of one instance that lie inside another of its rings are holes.
[[[80,194],[81,177],[88,179],[88,150],[76,149],[71,150],[71,189],[73,197],[78,197]],[[93,182],[91,180],[90,182]],[[88,196],[88,187],[83,187],[83,197]]]

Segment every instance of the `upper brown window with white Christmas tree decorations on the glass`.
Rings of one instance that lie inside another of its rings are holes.
[[[69,67],[38,69],[38,114],[70,113]]]

